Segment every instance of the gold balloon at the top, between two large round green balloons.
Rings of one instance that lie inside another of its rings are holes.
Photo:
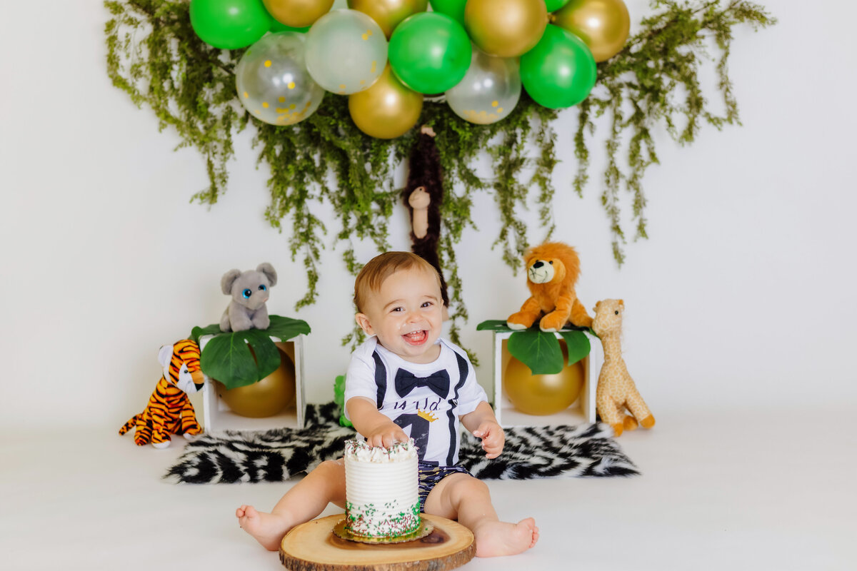
[[[468,0],[464,27],[489,56],[518,57],[533,49],[548,25],[544,0]]]

